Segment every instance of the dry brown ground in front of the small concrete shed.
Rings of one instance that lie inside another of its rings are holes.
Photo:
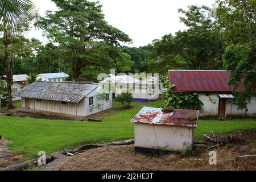
[[[75,155],[61,170],[256,170],[256,158],[238,158],[256,154],[256,130],[240,134],[245,144],[227,144],[211,150],[217,152],[217,165],[209,165],[209,150],[197,146],[191,156],[178,154],[146,156],[135,154],[134,146],[105,146]]]

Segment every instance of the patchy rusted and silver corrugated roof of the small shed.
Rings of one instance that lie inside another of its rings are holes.
[[[162,108],[143,107],[135,115],[131,122],[148,123],[152,125],[174,125],[185,127],[197,127],[198,110],[175,109],[173,113],[164,113]],[[188,117],[197,118],[195,121],[189,121]]]

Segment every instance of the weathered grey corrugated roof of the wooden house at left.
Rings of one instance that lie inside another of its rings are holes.
[[[20,90],[16,96],[77,103],[97,87],[98,84],[79,82],[36,81]]]

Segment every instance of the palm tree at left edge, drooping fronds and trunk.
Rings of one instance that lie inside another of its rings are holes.
[[[13,109],[13,54],[8,51],[11,36],[27,30],[28,24],[34,14],[34,3],[30,0],[1,0],[0,1],[0,31],[3,32],[3,45],[5,54],[0,64],[5,64],[6,82],[8,88],[9,109]]]

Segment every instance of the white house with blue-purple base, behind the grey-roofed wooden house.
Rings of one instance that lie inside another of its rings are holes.
[[[105,78],[101,81],[101,84],[109,86],[113,92],[113,98],[127,92],[133,94],[134,101],[146,102],[150,100],[157,100],[159,97],[159,84],[158,78],[144,78],[144,80],[138,80],[137,78],[121,75]]]

